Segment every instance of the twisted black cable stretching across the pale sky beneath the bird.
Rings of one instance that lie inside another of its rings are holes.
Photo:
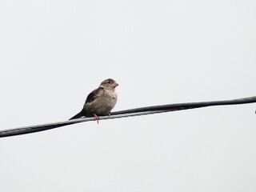
[[[126,118],[138,115],[145,114],[156,114],[163,112],[170,112],[174,110],[189,110],[194,108],[206,107],[206,106],[226,106],[226,105],[239,105],[256,102],[256,96],[250,98],[239,98],[234,100],[225,100],[225,101],[215,101],[215,102],[187,102],[187,103],[177,103],[163,106],[146,106],[131,110],[120,110],[111,113],[110,118],[108,116],[102,116],[100,119],[112,119],[112,118]],[[10,130],[1,130],[0,138],[10,137],[19,134],[30,134],[34,132],[39,132],[42,130],[50,130],[61,126],[68,126],[78,122],[89,122],[94,121],[94,118],[78,118],[72,119],[64,122],[54,122],[38,126],[24,126],[20,128],[10,129]]]

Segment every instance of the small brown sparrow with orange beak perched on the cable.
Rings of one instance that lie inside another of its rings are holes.
[[[98,116],[109,115],[114,108],[117,100],[118,94],[115,91],[115,87],[118,83],[112,78],[104,80],[98,89],[93,90],[86,98],[86,103],[84,104],[82,110],[74,115],[73,118],[94,117],[98,122]]]

